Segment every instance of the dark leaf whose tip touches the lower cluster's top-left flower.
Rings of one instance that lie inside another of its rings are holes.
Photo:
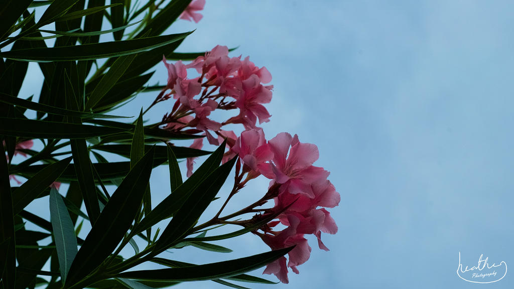
[[[217,168],[209,176],[207,176],[201,184],[196,187],[186,202],[173,215],[170,223],[164,229],[161,237],[156,242],[156,249],[167,249],[174,245],[177,241],[187,236],[190,229],[197,222],[200,215],[205,211],[212,199],[216,196],[219,189],[225,183],[237,157],[227,161],[221,167]]]

